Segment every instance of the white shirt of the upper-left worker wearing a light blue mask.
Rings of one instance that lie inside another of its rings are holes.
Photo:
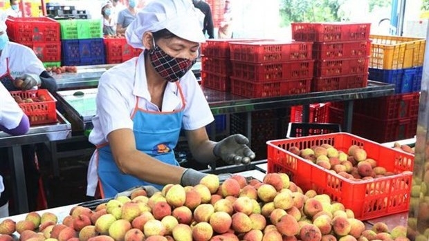
[[[43,62],[27,46],[9,42],[0,55],[0,76],[8,71],[6,58],[9,58],[10,75],[15,79],[24,74],[40,75],[44,70]]]

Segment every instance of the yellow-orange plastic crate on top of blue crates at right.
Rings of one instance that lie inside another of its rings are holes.
[[[371,57],[369,68],[400,69],[423,66],[426,39],[369,35]]]

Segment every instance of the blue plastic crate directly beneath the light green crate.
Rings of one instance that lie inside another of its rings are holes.
[[[62,40],[62,65],[106,64],[103,39]]]

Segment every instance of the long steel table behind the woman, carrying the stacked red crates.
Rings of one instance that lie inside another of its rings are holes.
[[[82,96],[75,96],[76,90],[63,90],[57,92],[57,99],[64,107],[68,117],[77,123],[83,130],[92,128],[91,118],[95,115],[95,96],[96,88],[80,90],[84,93]],[[334,90],[327,92],[305,93],[300,95],[286,95],[269,98],[246,98],[231,93],[221,92],[210,88],[203,88],[212,113],[214,115],[228,113],[248,113],[248,137],[251,133],[251,112],[257,110],[271,110],[275,108],[284,108],[287,106],[304,105],[303,118],[308,119],[308,106],[312,103],[319,102],[336,102],[345,101],[345,123],[343,130],[350,132],[352,130],[353,102],[355,99],[365,99],[372,97],[381,97],[394,94],[394,85],[385,84],[378,81],[369,81],[365,88],[354,88],[347,90]],[[307,112],[307,113],[306,113]],[[215,131],[211,132],[212,135]]]

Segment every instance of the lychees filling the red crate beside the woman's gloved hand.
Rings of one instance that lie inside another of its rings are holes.
[[[349,146],[347,153],[330,144],[304,149],[291,146],[288,151],[349,180],[370,180],[395,174],[378,166],[376,160],[367,157],[365,149],[357,145]]]

